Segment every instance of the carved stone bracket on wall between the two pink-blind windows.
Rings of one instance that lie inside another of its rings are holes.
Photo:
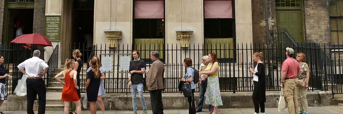
[[[176,30],[176,39],[180,40],[181,48],[189,47],[189,39],[191,38],[193,30]]]

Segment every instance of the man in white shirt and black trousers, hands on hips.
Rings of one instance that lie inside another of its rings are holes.
[[[27,88],[27,114],[34,114],[33,103],[38,94],[38,114],[45,113],[46,88],[43,76],[48,71],[48,64],[39,59],[40,51],[33,51],[33,57],[20,63],[17,67],[23,73],[28,75],[26,79]]]

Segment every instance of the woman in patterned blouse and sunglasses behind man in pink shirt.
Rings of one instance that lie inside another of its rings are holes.
[[[298,103],[299,103],[299,114],[307,114],[307,99],[306,99],[306,92],[308,88],[308,80],[310,78],[310,72],[309,68],[306,62],[306,55],[304,53],[297,53],[296,57],[300,67],[301,67],[301,74],[297,79],[304,79],[306,78],[306,84],[305,87],[296,87],[297,91],[297,98],[298,98]]]

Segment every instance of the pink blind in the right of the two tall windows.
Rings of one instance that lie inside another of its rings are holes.
[[[232,18],[232,0],[205,0],[205,18]]]

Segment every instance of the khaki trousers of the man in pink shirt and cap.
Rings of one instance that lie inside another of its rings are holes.
[[[296,95],[295,79],[286,79],[283,81],[283,93],[287,102],[288,114],[298,114],[299,105]]]

